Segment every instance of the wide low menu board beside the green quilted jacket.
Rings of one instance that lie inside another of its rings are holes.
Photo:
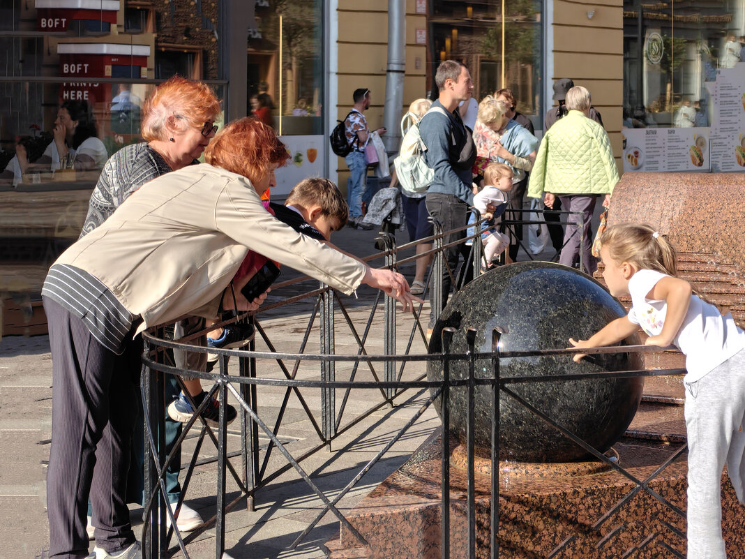
[[[624,128],[624,171],[709,171],[708,128]]]

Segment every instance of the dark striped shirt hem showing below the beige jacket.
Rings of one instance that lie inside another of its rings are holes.
[[[83,320],[93,337],[117,355],[124,352],[130,332],[140,320],[124,308],[101,280],[75,266],[52,265],[42,287],[42,297],[54,300]]]

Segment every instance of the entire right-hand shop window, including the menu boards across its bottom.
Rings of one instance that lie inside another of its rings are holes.
[[[624,2],[627,171],[745,171],[744,15],[744,0]]]

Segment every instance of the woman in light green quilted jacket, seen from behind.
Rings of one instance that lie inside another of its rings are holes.
[[[558,197],[564,209],[577,212],[569,214],[559,263],[574,265],[581,243],[585,271],[592,275],[597,269],[597,259],[591,252],[595,203],[598,196],[606,195],[603,206],[607,206],[619,179],[608,134],[588,118],[590,101],[590,92],[582,86],[566,92],[569,112],[543,136],[527,195],[540,198],[545,192],[546,207],[552,208]],[[584,225],[581,239],[580,212]]]

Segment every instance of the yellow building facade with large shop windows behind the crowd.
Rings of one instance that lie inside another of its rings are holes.
[[[95,184],[95,171],[61,163],[16,172],[17,150],[29,161],[44,154],[60,104],[84,101],[111,155],[139,141],[156,83],[206,80],[224,119],[268,114],[291,155],[278,197],[309,175],[344,189],[328,135],[358,87],[373,92],[370,127],[383,125],[388,10],[388,0],[4,1],[4,300],[38,297]],[[745,0],[406,0],[404,18],[402,103],[392,110],[432,95],[437,64],[453,58],[469,66],[475,97],[513,89],[540,134],[554,80],[572,78],[592,93],[621,171],[745,170]]]

